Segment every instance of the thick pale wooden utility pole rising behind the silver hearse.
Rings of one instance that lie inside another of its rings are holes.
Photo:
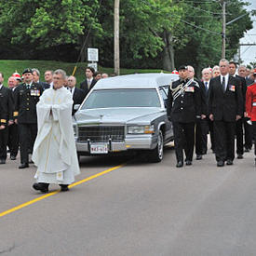
[[[120,54],[119,54],[119,6],[120,0],[115,0],[114,9],[114,67],[115,74],[120,74]]]

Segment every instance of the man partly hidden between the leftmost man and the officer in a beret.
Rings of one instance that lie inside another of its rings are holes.
[[[14,101],[14,91],[17,88],[19,82],[14,76],[10,76],[8,78],[8,88],[11,91],[11,98]],[[14,110],[14,107],[13,107]],[[8,121],[8,140],[7,146],[10,152],[10,159],[16,160],[16,156],[18,155],[19,151],[19,130],[18,125],[14,122],[14,113],[9,116]]]

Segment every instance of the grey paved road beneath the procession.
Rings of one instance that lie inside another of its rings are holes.
[[[175,168],[169,147],[160,164],[134,156],[83,157],[82,182],[47,198],[31,188],[35,168],[18,165],[0,167],[0,254],[256,254],[252,152],[224,168],[211,153],[192,167]]]

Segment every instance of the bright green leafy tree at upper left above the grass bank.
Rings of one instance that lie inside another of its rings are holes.
[[[0,35],[34,49],[79,44],[88,28],[101,34],[94,17],[98,7],[97,0],[1,0]]]

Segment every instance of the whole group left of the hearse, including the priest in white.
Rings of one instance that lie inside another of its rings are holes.
[[[76,88],[75,76],[60,69],[47,70],[42,82],[38,69],[27,68],[22,75],[16,72],[8,77],[7,87],[0,73],[0,164],[6,164],[7,148],[11,160],[16,160],[20,150],[19,168],[29,168],[29,163],[37,167],[35,190],[46,193],[49,183],[57,183],[61,191],[67,191],[79,173],[74,105],[84,101],[99,79],[108,77],[92,67],[85,74]]]

